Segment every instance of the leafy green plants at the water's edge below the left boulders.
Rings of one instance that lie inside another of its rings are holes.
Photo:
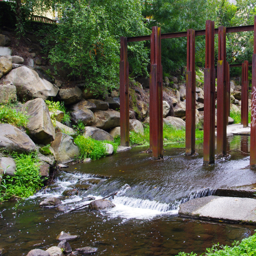
[[[39,175],[40,163],[36,154],[13,154],[13,158],[16,173],[14,177],[5,176],[2,180],[4,186],[0,187],[0,201],[32,196],[42,186]]]

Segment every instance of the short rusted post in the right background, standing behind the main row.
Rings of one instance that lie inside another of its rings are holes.
[[[242,91],[241,91],[241,123],[248,126],[248,60],[242,64]]]

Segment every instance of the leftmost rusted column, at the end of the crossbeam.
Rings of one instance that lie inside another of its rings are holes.
[[[127,37],[121,36],[120,41],[120,144],[121,146],[130,146],[129,63],[127,59]]]

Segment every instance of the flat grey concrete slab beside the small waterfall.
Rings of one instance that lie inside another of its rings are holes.
[[[209,196],[180,205],[179,215],[231,223],[256,225],[256,199]]]

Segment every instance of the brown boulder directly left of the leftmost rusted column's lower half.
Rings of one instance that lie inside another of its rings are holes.
[[[100,129],[108,130],[120,126],[120,113],[117,111],[96,111],[94,117],[95,121],[93,126]]]

